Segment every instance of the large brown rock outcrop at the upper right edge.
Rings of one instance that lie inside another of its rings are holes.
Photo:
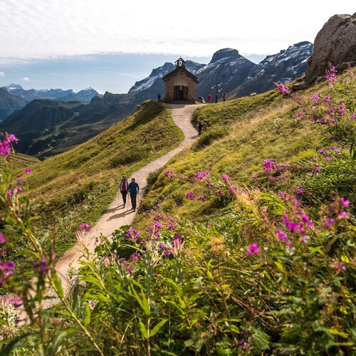
[[[318,32],[313,55],[308,60],[305,82],[325,75],[329,63],[343,69],[356,63],[356,13],[334,15]]]

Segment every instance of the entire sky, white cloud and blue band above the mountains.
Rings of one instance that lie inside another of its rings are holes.
[[[126,93],[179,56],[209,63],[229,47],[257,63],[355,11],[350,0],[0,0],[0,86]]]

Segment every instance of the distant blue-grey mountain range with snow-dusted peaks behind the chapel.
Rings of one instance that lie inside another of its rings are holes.
[[[216,93],[219,98],[222,93],[238,98],[263,93],[274,88],[273,83],[303,76],[312,52],[312,43],[300,42],[255,64],[236,49],[224,48],[214,53],[209,64],[187,61],[186,68],[198,77],[197,98],[206,98],[209,93],[213,98]],[[23,153],[56,155],[127,117],[143,101],[157,100],[157,95],[164,93],[162,77],[173,69],[173,63],[164,63],[137,81],[127,94],[100,95],[90,87],[74,93],[8,85],[0,88],[0,120],[4,120],[0,131],[19,136],[18,148]]]

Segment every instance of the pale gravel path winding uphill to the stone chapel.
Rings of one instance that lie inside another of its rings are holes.
[[[192,125],[192,113],[197,108],[196,105],[165,105],[167,108],[172,110],[172,117],[174,123],[182,130],[184,133],[184,141],[179,145],[179,147],[168,152],[166,155],[155,159],[155,161],[150,162],[145,167],[142,167],[137,172],[132,174],[135,177],[136,182],[140,184],[140,194],[137,201],[137,206],[140,204],[140,199],[142,199],[143,194],[145,194],[145,188],[147,186],[147,176],[150,172],[154,172],[166,164],[170,158],[177,155],[178,152],[182,151],[185,147],[192,144],[192,142],[197,138],[197,130]],[[130,179],[129,179],[130,181]],[[120,194],[120,193],[119,193]],[[115,200],[112,201],[106,213],[99,219],[99,221],[93,226],[88,234],[85,235],[85,243],[91,253],[94,252],[95,248],[95,238],[103,234],[104,236],[110,236],[113,231],[118,229],[120,226],[132,224],[135,218],[136,212],[124,209],[122,205],[118,206],[118,199],[120,199],[120,204],[122,204],[122,198],[117,195]],[[130,197],[127,197],[127,201]],[[82,256],[82,251],[79,244],[76,244],[73,248],[66,251],[64,255],[58,259],[56,263],[56,270],[58,275],[61,277],[63,289],[68,290],[68,271],[69,269],[77,269],[80,266],[79,259]]]

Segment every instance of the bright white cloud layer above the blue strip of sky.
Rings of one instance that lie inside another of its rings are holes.
[[[211,56],[224,47],[277,53],[299,41],[313,42],[335,13],[355,11],[352,0],[325,0],[323,6],[299,0],[293,11],[285,0],[275,0],[273,6],[262,0],[225,0],[218,6],[208,0],[199,6],[199,16],[187,0],[180,0],[181,6],[173,1],[162,6],[160,0],[104,2],[105,6],[98,0],[0,0],[0,63],[1,58],[109,52]],[[172,14],[179,21],[173,21]]]

